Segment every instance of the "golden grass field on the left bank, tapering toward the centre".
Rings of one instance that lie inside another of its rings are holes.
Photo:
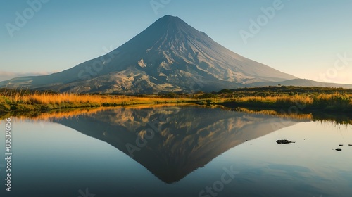
[[[5,90],[0,91],[0,111],[49,111],[62,108],[92,108],[130,106],[150,103],[187,103],[190,98],[165,96],[109,96],[92,94],[56,94],[52,92]]]

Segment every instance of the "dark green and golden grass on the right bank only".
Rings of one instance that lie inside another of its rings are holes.
[[[304,87],[263,87],[222,90],[222,104],[230,108],[281,108],[297,111],[352,112],[352,89],[304,88]]]

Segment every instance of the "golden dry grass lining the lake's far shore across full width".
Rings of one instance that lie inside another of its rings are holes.
[[[206,94],[207,95],[207,94]],[[236,96],[233,98],[222,98],[213,95],[212,98],[165,98],[162,96],[111,96],[92,94],[53,94],[49,92],[27,92],[23,90],[6,90],[0,92],[0,110],[52,110],[59,108],[83,108],[99,106],[130,106],[138,104],[154,103],[196,103],[216,104],[225,101],[245,103],[244,106],[311,106],[313,108],[329,108],[330,110],[347,109],[352,110],[352,94],[314,93],[314,94],[280,94],[274,96]]]

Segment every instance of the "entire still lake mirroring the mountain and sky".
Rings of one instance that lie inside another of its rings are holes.
[[[11,192],[1,159],[1,197],[352,196],[351,125],[196,106],[11,123]]]

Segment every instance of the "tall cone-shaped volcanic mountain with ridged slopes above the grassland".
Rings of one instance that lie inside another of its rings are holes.
[[[180,18],[165,15],[106,55],[51,75],[0,82],[0,87],[139,94],[218,91],[296,79],[239,56]]]

